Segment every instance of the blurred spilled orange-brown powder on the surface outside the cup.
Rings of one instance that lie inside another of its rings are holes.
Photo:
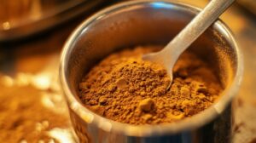
[[[0,142],[60,142],[48,133],[52,129],[67,129],[68,117],[66,114],[53,112],[42,104],[41,93],[44,91],[30,85],[9,88],[1,83],[0,85]]]

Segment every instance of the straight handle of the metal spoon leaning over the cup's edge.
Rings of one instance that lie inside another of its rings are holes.
[[[172,65],[170,62],[176,62],[178,56],[206,31],[214,20],[217,20],[218,16],[234,2],[235,0],[210,1],[205,9],[197,14],[195,18],[189,22],[189,25],[185,26],[185,28],[167,44],[166,48],[162,50],[162,54],[172,55],[172,61],[167,61],[168,65]],[[172,67],[170,68],[172,69]]]

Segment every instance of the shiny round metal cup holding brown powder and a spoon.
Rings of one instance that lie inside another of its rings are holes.
[[[242,56],[234,37],[218,20],[189,48],[215,69],[224,92],[207,110],[175,123],[130,125],[90,112],[78,97],[86,72],[113,51],[166,44],[200,11],[175,1],[119,3],[93,15],[73,32],[61,57],[61,86],[81,142],[229,142],[230,102],[242,77]]]

